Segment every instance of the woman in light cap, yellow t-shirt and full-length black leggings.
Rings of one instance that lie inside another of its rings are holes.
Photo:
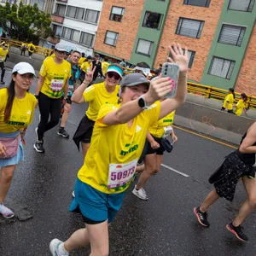
[[[40,69],[35,96],[38,99],[40,122],[36,128],[37,141],[34,148],[44,153],[44,132],[58,125],[61,117],[61,96],[67,101],[68,79],[71,65],[64,60],[67,49],[62,44],[55,45],[55,56],[44,60]],[[50,117],[50,118],[49,118]]]

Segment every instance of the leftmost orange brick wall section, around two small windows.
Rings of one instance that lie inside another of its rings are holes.
[[[144,0],[108,0],[104,1],[99,22],[95,49],[107,55],[130,60],[131,52],[137,36],[137,29],[143,12]],[[125,8],[122,22],[109,20],[112,6]],[[119,32],[115,47],[104,44],[106,31]]]

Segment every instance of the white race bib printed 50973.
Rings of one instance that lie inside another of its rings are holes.
[[[126,164],[110,164],[108,173],[108,189],[121,187],[129,183],[134,175],[137,159]]]

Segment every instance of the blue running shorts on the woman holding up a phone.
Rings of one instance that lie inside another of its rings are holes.
[[[75,198],[70,212],[80,212],[86,224],[99,224],[108,219],[111,223],[115,214],[119,212],[125,191],[117,194],[105,194],[94,189],[87,183],[83,183],[77,178],[74,189]]]

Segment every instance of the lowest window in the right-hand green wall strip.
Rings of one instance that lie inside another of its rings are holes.
[[[234,67],[235,61],[230,61],[213,56],[208,73],[223,79],[230,79]]]

